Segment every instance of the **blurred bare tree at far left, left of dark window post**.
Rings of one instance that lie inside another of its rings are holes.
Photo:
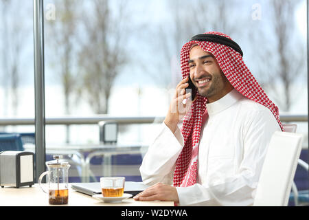
[[[4,88],[4,114],[8,114],[8,107],[12,106],[12,115],[17,115],[19,100],[19,85],[21,82],[21,66],[23,63],[23,52],[25,41],[30,32],[27,31],[27,22],[19,17],[23,16],[24,8],[17,7],[16,1],[2,0],[1,21],[2,35],[2,69]],[[13,17],[13,19],[12,19]],[[11,103],[9,103],[9,97]]]

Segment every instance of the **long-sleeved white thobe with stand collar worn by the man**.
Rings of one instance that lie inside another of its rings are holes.
[[[280,126],[268,108],[236,89],[206,107],[196,184],[176,187],[179,205],[251,206],[271,135]],[[139,169],[144,183],[172,185],[183,146],[180,129],[172,133],[163,122]]]

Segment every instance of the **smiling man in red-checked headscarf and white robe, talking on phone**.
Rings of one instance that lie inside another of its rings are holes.
[[[271,135],[283,131],[277,107],[226,34],[194,36],[181,50],[181,70],[183,80],[141,164],[141,177],[152,186],[135,199],[252,205]],[[189,77],[198,91],[192,102]]]

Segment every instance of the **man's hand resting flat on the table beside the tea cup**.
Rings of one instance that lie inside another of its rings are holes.
[[[149,188],[147,188],[143,192],[140,192],[133,198],[139,201],[160,200],[174,201],[176,203],[179,203],[179,197],[176,188],[161,183],[150,186]]]

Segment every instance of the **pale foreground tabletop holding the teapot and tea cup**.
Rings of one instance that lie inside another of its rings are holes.
[[[38,186],[22,188],[0,188],[0,206],[56,206],[49,205],[48,195]],[[122,203],[104,203],[89,195],[84,195],[71,189],[69,184],[69,203],[58,206],[174,206],[172,201],[135,201],[124,199]]]

